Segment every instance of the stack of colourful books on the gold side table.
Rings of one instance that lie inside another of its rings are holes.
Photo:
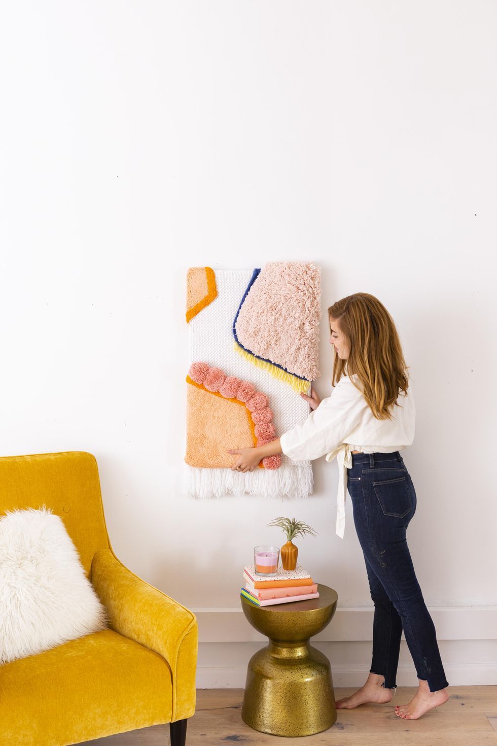
[[[245,585],[241,595],[256,606],[289,604],[291,601],[305,601],[307,598],[319,598],[317,583],[302,565],[294,570],[282,570],[275,575],[259,574],[253,565],[244,567]]]

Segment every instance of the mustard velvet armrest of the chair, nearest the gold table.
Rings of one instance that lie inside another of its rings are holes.
[[[124,567],[111,549],[95,552],[90,579],[107,609],[110,627],[168,662],[173,684],[171,722],[191,717],[196,699],[196,616]]]

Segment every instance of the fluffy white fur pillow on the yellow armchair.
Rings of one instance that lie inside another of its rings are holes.
[[[102,630],[104,606],[62,519],[43,506],[0,518],[0,665]]]

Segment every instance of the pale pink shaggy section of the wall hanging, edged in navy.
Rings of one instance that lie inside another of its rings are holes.
[[[289,373],[319,378],[320,279],[312,263],[268,262],[238,313],[240,344]]]

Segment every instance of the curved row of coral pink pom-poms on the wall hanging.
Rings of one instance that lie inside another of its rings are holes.
[[[253,383],[226,375],[221,368],[209,366],[208,363],[191,363],[189,377],[211,392],[220,393],[226,399],[238,399],[245,404],[255,424],[257,445],[266,445],[274,440],[273,410],[268,407],[268,397],[262,391],[257,391]],[[282,465],[281,454],[266,456],[262,463],[268,469],[279,468]]]

